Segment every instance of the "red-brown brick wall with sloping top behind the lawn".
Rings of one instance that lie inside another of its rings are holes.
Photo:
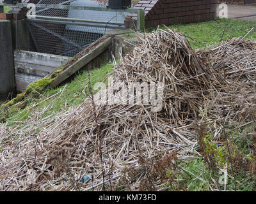
[[[216,17],[216,0],[143,0],[134,8],[145,10],[145,27],[201,22]],[[125,25],[134,27],[136,20],[136,13],[131,13]]]

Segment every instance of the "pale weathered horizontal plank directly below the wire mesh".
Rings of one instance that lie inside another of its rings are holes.
[[[48,66],[51,68],[58,68],[70,59],[71,57],[44,54],[39,52],[29,52],[24,50],[15,50],[14,52],[15,61],[26,62],[28,64]]]

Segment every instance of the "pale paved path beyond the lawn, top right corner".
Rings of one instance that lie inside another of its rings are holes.
[[[217,15],[219,6],[217,6]],[[228,18],[256,21],[256,6],[228,4]]]

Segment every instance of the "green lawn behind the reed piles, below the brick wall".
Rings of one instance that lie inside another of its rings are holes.
[[[256,39],[256,22],[234,19],[211,20],[209,22],[200,22],[195,24],[177,24],[168,26],[171,29],[177,29],[186,36],[194,39],[189,39],[189,43],[193,48],[204,48],[209,45],[220,43],[221,40],[228,40],[239,36],[246,35],[252,27],[255,29],[246,37]],[[160,26],[160,28],[163,28]],[[156,28],[147,29],[151,32]]]

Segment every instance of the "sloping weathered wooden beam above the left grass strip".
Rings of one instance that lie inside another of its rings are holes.
[[[71,63],[67,68],[65,68],[61,73],[58,75],[58,77],[52,81],[50,87],[56,87],[61,82],[66,80],[68,77],[76,73],[79,69],[83,68],[83,66],[86,66],[90,61],[95,59],[99,54],[104,52],[109,45],[112,43],[111,37],[103,36],[99,40],[95,41],[92,45],[85,48],[83,51],[81,51],[77,55],[84,54],[83,57],[79,58],[76,62]],[[76,58],[76,57],[75,57]]]

